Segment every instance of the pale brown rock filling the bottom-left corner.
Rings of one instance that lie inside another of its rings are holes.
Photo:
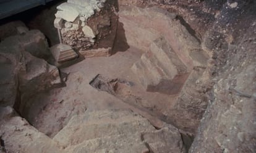
[[[61,152],[52,139],[38,132],[11,107],[0,107],[0,117],[0,135],[6,152]]]

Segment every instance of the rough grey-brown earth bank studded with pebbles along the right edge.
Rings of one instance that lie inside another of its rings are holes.
[[[190,152],[256,151],[255,7],[252,1],[224,3],[204,36],[215,85]]]

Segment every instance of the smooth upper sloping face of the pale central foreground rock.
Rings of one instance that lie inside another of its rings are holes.
[[[82,143],[88,139],[101,138],[102,136],[129,135],[138,131],[154,130],[146,118],[130,111],[115,110],[111,113],[102,113],[101,111],[87,112],[83,115],[72,117],[70,122],[54,136],[54,141],[66,147]],[[91,117],[87,117],[88,115]]]

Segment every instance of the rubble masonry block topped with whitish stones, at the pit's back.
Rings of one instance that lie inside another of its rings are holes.
[[[106,0],[67,0],[57,7],[54,27],[61,32],[62,43],[75,51],[96,46],[97,41],[109,34],[111,18],[105,7]]]

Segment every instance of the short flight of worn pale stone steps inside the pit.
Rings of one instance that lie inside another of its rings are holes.
[[[179,93],[188,76],[186,65],[163,36],[153,41],[132,71],[147,91],[166,94]]]

